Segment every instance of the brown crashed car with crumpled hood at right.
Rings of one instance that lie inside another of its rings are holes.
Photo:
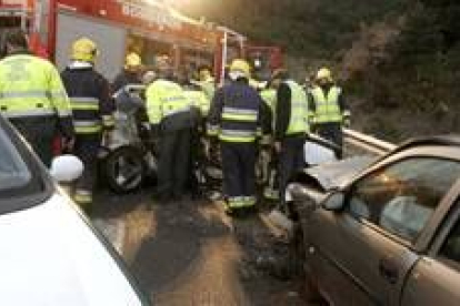
[[[287,190],[311,299],[459,305],[460,137],[304,170]]]

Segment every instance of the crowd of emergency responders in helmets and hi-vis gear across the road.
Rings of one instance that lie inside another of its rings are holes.
[[[217,85],[208,67],[198,69],[198,80],[191,80],[187,73],[177,75],[167,59],[146,72],[141,58],[129,53],[110,84],[94,69],[99,51],[88,38],[73,42],[61,73],[29,51],[21,30],[6,31],[2,47],[0,113],[47,166],[57,154],[57,140],[61,153],[81,159],[84,171],[72,196],[87,211],[97,183],[101,142],[114,129],[113,99],[130,84],[147,86],[146,113],[157,140],[152,149],[158,157],[154,197],[160,203],[180,202],[193,188],[190,173],[203,143],[220,153],[229,214],[256,207],[256,164],[261,151],[270,152],[270,164],[277,170],[266,196],[281,203],[289,177],[304,166],[308,133],[329,140],[341,155],[342,128],[349,124],[350,112],[327,68],[308,86],[296,82],[286,69],[274,71],[261,86],[251,78],[250,64],[236,59]]]

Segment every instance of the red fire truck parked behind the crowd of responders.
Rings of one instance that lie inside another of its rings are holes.
[[[188,18],[158,0],[0,0],[0,28],[22,27],[32,50],[66,65],[72,41],[94,40],[98,69],[113,79],[127,52],[147,65],[168,55],[176,68],[214,68],[243,57],[246,38],[230,29]]]

